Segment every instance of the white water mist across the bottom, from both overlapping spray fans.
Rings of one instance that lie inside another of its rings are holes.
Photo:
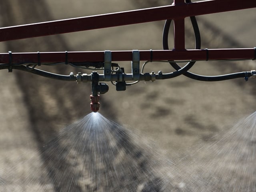
[[[208,141],[163,155],[155,143],[90,113],[41,146],[42,161],[29,176],[19,166],[1,168],[7,192],[201,192],[256,191],[256,112]],[[17,164],[26,162],[19,158]],[[38,178],[40,177],[40,178]],[[38,182],[38,180],[40,182]]]

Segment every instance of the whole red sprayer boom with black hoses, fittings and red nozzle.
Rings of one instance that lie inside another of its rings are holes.
[[[108,85],[100,81],[111,82],[116,86],[117,91],[124,91],[126,90],[126,86],[134,85],[140,81],[154,82],[155,80],[170,79],[180,75],[200,81],[222,81],[234,78],[244,78],[247,81],[249,77],[256,77],[255,70],[218,76],[194,74],[189,72],[189,70],[197,61],[217,60],[231,62],[255,60],[256,47],[201,49],[200,31],[195,17],[198,15],[255,7],[255,0],[247,0],[242,4],[240,0],[210,0],[200,2],[174,0],[174,3],[170,6],[0,28],[0,42],[3,42],[8,40],[166,20],[162,38],[163,50],[105,50],[96,52],[66,51],[34,53],[12,53],[9,51],[8,53],[0,53],[0,69],[8,69],[8,72],[12,72],[13,69],[18,69],[48,78],[76,81],[78,83],[91,82],[92,94],[90,95],[90,108],[93,112],[99,110],[100,94],[104,94],[108,91]],[[185,48],[184,19],[186,17],[190,17],[196,40],[195,48],[191,50]],[[172,21],[174,22],[174,48],[170,50],[168,46],[168,33]],[[121,67],[118,63],[114,63],[120,61],[131,62],[131,73],[125,73],[124,67]],[[140,61],[146,61],[141,69]],[[144,68],[149,62],[168,62],[175,71],[169,73],[163,73],[162,71],[144,72]],[[183,67],[178,64],[184,62],[187,62],[187,64]],[[67,64],[75,68],[93,70],[93,72],[91,74],[79,72],[76,75],[71,72],[70,75],[62,75],[36,68],[41,65],[52,66],[58,64]],[[99,70],[103,70],[103,74],[99,74]],[[128,81],[131,83],[126,83]]]

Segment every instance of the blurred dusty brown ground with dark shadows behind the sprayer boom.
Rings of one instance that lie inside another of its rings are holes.
[[[75,3],[68,0],[4,1],[1,5],[1,26],[74,18],[169,3],[164,0],[76,0]],[[251,9],[198,17],[202,48],[255,46],[254,15],[255,10]],[[163,24],[164,22],[153,22],[17,40],[1,43],[0,48],[1,52],[162,49]],[[186,34],[187,48],[192,48],[194,39],[190,24],[186,25]],[[172,44],[170,39],[170,45]],[[128,66],[130,63],[123,65]],[[253,61],[240,64],[200,62],[192,71],[215,75],[252,70],[255,69],[253,65],[255,65]],[[69,74],[70,71],[76,72],[73,68],[50,69],[65,74]],[[167,64],[161,64],[159,67],[149,64],[146,70],[169,71],[171,68]],[[228,132],[240,118],[254,112],[254,85],[253,80],[197,82],[180,76],[154,83],[140,82],[128,87],[125,92],[116,92],[115,88],[110,86],[110,91],[101,97],[100,113],[128,126],[131,130],[138,131],[144,138],[156,141],[161,146],[161,153],[168,154],[168,158],[172,159],[172,154],[189,153],[188,149],[197,150],[198,145],[210,145],[212,140],[208,138],[220,131]],[[31,173],[47,172],[49,167],[44,164],[44,157],[40,161],[38,158],[36,161],[33,160],[33,157],[39,156],[40,146],[52,138],[58,130],[90,113],[88,107],[90,91],[90,85],[86,84],[76,85],[72,82],[48,80],[24,72],[15,71],[8,74],[6,71],[1,71],[1,191],[6,190],[4,187],[8,178],[5,174],[9,172],[8,167],[11,166],[17,167],[14,170],[19,170],[18,173],[14,171],[17,178],[12,178],[14,180],[12,184],[16,186],[17,191],[33,191],[31,186],[27,188],[22,184],[20,179],[22,174],[35,177],[34,190],[40,189],[37,185],[40,176]],[[28,150],[31,152],[28,153]],[[204,152],[202,150],[202,153]],[[19,158],[22,160],[17,161]],[[198,164],[203,164],[203,161],[203,158],[198,159]],[[184,165],[180,167],[182,166]],[[241,174],[241,177],[243,176]],[[255,177],[255,174],[253,176]],[[47,179],[45,182],[47,183]],[[51,189],[52,186],[49,186],[49,191]]]

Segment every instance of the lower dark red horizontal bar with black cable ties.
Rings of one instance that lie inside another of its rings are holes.
[[[132,61],[132,50],[112,51],[112,61]],[[255,59],[254,48],[242,49],[202,49],[202,50],[140,50],[140,60],[222,60]],[[66,62],[104,62],[104,51],[98,52],[40,52],[41,63]],[[12,53],[11,62],[38,63],[38,52]],[[9,53],[0,53],[0,63],[10,63]]]

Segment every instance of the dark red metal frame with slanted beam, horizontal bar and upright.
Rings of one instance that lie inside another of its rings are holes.
[[[209,49],[208,53],[207,50],[186,50],[184,32],[184,19],[188,16],[255,7],[256,0],[208,0],[192,3],[185,3],[184,0],[174,0],[174,3],[170,6],[0,28],[0,42],[173,19],[174,49],[153,50],[153,52],[142,50],[140,51],[140,60],[255,59],[254,48]],[[65,58],[65,52],[40,53],[40,62],[63,62]],[[112,52],[112,60],[132,60],[132,51],[114,51]],[[12,53],[12,62],[25,61],[38,62],[38,53]],[[104,61],[104,52],[68,52],[68,61]],[[0,54],[0,62],[8,63],[9,54]]]

